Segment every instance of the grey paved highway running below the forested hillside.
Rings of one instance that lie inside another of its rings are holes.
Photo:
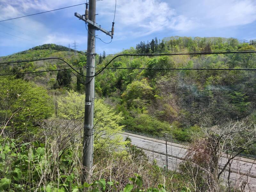
[[[153,161],[155,159],[160,167],[165,165],[165,141],[157,140],[150,137],[145,137],[141,135],[136,135],[132,133],[124,132],[122,133],[123,138],[129,136],[132,140],[132,144],[136,145],[138,148],[144,149],[145,153],[148,155],[149,159]],[[177,143],[167,142],[167,153],[168,153],[168,169],[175,170],[178,169],[180,162],[182,162],[184,155],[187,152],[187,147]],[[244,157],[236,157],[231,165],[231,180],[233,180],[234,185],[239,185],[239,183],[247,180],[248,187],[250,191],[256,191],[256,160],[248,159]],[[227,162],[227,158],[222,157],[220,160],[220,167]],[[228,172],[222,174],[225,180]],[[249,191],[249,190],[248,190]]]

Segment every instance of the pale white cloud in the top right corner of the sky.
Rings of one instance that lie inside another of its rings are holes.
[[[186,17],[193,17],[200,27],[240,26],[256,20],[255,0],[192,0],[181,5]]]

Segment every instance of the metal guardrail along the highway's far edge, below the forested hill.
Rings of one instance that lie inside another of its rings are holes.
[[[133,133],[133,134],[136,134],[136,135],[141,135],[141,136],[150,137],[150,138],[154,138],[154,139],[159,139],[159,140],[164,140],[165,141],[164,137],[159,137],[159,136],[150,135],[150,134],[147,134],[147,133],[141,133],[141,132],[137,132],[137,131],[132,131],[132,130],[128,130],[128,129],[123,129],[123,131],[128,132],[128,133]],[[168,142],[182,144],[182,145],[188,145],[189,144],[187,142],[182,142],[182,141],[178,141],[178,140],[175,140],[175,139],[170,140],[169,138],[167,138],[167,141]],[[256,159],[255,155],[250,155],[250,154],[240,153],[238,156],[245,157],[245,158]]]

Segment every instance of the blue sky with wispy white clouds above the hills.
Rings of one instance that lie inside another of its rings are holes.
[[[84,3],[84,0],[0,0],[0,20]],[[85,5],[0,22],[0,56],[33,46],[78,42],[86,50],[87,31],[74,12]],[[96,22],[110,30],[115,0],[97,2]],[[96,52],[107,54],[135,46],[140,41],[168,36],[221,36],[256,39],[255,0],[117,0],[115,36],[111,44],[96,41]],[[110,37],[97,32],[109,42]]]

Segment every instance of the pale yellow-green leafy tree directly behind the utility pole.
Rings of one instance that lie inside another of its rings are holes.
[[[67,96],[58,100],[57,117],[69,120],[84,120],[85,95],[70,90]],[[124,145],[122,136],[116,134],[122,131],[119,123],[122,113],[116,114],[113,109],[104,104],[103,99],[94,100],[94,146],[116,148]]]

